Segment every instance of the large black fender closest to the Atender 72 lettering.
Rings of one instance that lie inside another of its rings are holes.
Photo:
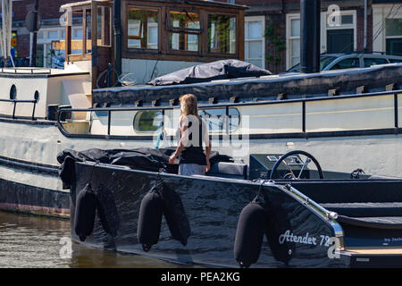
[[[266,224],[263,204],[252,201],[242,209],[234,243],[234,257],[240,267],[249,267],[257,262],[266,232]]]

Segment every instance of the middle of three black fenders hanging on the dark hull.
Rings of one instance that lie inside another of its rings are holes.
[[[138,242],[145,251],[158,243],[163,215],[163,199],[155,188],[147,192],[139,206]]]

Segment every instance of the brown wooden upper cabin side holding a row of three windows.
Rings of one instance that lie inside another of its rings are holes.
[[[122,4],[123,58],[244,60],[245,7],[214,1],[125,0]]]

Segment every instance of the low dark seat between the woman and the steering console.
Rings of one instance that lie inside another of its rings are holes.
[[[208,176],[247,180],[247,164],[219,162],[211,166]]]

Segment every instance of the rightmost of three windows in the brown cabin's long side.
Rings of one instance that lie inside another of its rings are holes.
[[[236,16],[208,15],[208,52],[236,54]]]

